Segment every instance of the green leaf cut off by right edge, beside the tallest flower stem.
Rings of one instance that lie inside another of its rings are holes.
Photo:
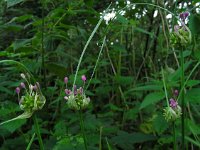
[[[185,101],[191,103],[200,103],[200,88],[193,88],[187,91]]]

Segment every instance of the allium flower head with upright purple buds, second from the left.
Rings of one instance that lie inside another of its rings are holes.
[[[82,80],[86,81],[86,77],[84,76]],[[90,103],[90,98],[86,97],[82,87],[77,89],[77,86],[74,85],[72,91],[69,89],[65,89],[65,93],[66,96],[64,97],[64,99],[67,100],[67,105],[70,109],[83,110],[88,107]]]

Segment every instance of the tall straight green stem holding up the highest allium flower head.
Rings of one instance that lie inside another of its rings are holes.
[[[184,57],[183,57],[183,48],[181,49],[181,89],[184,88]],[[181,107],[182,107],[182,116],[181,116],[181,132],[182,132],[182,149],[185,149],[185,93],[184,90],[181,91]]]

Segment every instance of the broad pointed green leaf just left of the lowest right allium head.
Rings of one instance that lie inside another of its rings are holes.
[[[147,95],[140,105],[140,109],[145,108],[151,104],[155,104],[165,97],[164,92],[154,92]]]

